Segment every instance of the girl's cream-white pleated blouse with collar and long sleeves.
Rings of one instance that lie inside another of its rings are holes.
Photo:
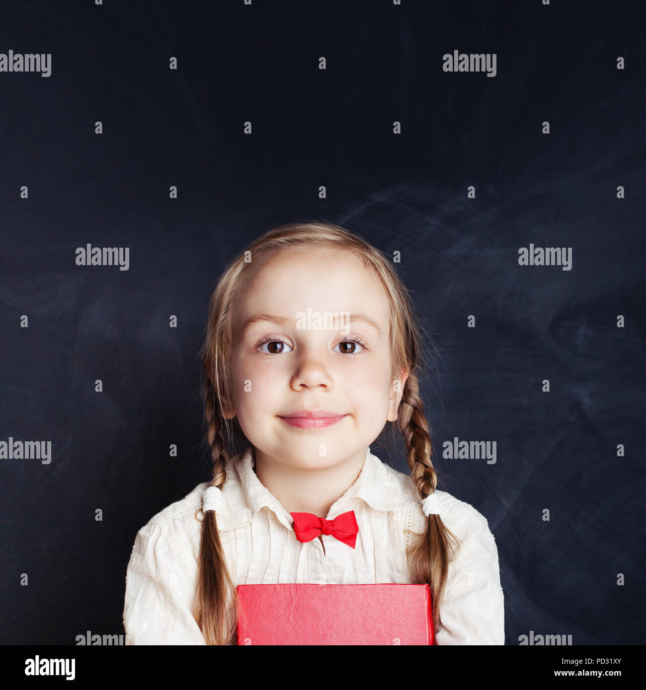
[[[234,584],[411,584],[406,546],[428,518],[409,475],[368,448],[357,481],[325,516],[354,510],[356,547],[323,535],[324,555],[321,540],[296,539],[292,516],[260,482],[254,462],[252,446],[232,457],[221,487],[216,519]],[[207,486],[198,484],[137,533],[126,571],[126,644],[206,644],[191,610]],[[488,522],[468,503],[436,493],[444,524],[462,542],[449,564],[437,644],[504,644],[504,597]]]

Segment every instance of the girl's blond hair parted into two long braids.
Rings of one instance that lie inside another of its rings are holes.
[[[406,460],[410,476],[420,499],[435,491],[438,477],[430,460],[431,441],[429,424],[424,415],[424,404],[419,397],[419,373],[422,369],[419,326],[413,316],[413,306],[406,288],[397,275],[392,262],[362,237],[324,221],[287,224],[269,230],[247,246],[234,258],[220,277],[209,302],[209,318],[200,357],[206,378],[202,393],[205,398],[207,442],[213,460],[210,486],[222,487],[227,473],[225,466],[230,457],[234,434],[245,440],[245,435],[234,418],[222,414],[233,410],[230,353],[233,347],[232,319],[238,286],[243,283],[251,263],[249,255],[269,258],[289,247],[310,246],[338,248],[361,259],[363,266],[380,280],[390,304],[390,352],[392,378],[408,371],[403,386],[395,424],[406,444]],[[257,262],[256,262],[257,263]],[[431,514],[424,533],[408,547],[408,569],[414,584],[429,584],[433,600],[433,626],[437,631],[439,607],[444,594],[448,564],[455,558],[459,546],[439,515]],[[237,626],[236,586],[229,574],[222,549],[216,513],[207,511],[202,520],[202,539],[198,557],[198,579],[193,615],[207,644],[235,644]]]

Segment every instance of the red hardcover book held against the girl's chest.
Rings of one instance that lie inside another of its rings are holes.
[[[435,644],[428,584],[240,584],[238,644]]]

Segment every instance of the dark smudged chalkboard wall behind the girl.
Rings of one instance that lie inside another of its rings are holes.
[[[638,8],[3,3],[0,52],[51,53],[52,73],[0,72],[0,440],[53,459],[0,460],[0,641],[123,633],[137,529],[209,477],[209,292],[251,239],[323,218],[401,251],[437,346],[441,488],[488,518],[506,644],[643,642]],[[497,75],[444,72],[453,50],[495,52]],[[129,246],[129,270],[77,266],[87,243]],[[530,243],[571,247],[571,270],[519,266]],[[495,440],[497,462],[443,459],[454,436]],[[374,444],[405,471],[402,449]]]

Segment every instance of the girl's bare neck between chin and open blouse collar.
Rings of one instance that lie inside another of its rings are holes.
[[[331,466],[311,468],[294,466],[254,449],[254,471],[287,513],[314,513],[329,519],[334,502],[361,474],[366,450]]]

